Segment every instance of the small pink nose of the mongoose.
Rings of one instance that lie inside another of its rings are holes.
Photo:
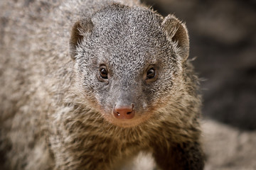
[[[131,106],[114,106],[114,117],[118,119],[132,119],[135,115],[133,108],[133,104]]]

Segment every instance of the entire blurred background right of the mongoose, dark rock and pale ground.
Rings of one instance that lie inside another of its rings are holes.
[[[188,27],[203,80],[206,169],[256,169],[256,1],[143,2]]]

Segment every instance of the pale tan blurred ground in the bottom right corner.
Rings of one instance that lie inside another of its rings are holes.
[[[246,132],[213,120],[203,120],[206,170],[256,169],[256,131]]]

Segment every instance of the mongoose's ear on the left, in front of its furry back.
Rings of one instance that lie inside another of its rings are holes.
[[[70,57],[75,60],[75,56],[77,54],[77,47],[80,42],[82,42],[82,39],[86,35],[86,33],[90,33],[93,28],[93,23],[90,19],[77,21],[72,30],[71,30],[71,36],[70,36]]]

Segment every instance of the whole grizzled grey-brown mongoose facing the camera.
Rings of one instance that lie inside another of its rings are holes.
[[[203,169],[186,26],[139,1],[1,2],[6,169]]]

